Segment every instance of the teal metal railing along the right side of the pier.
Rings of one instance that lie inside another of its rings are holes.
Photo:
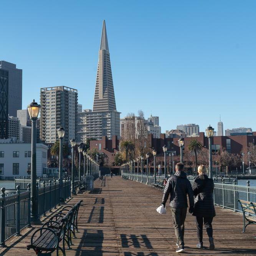
[[[142,175],[141,178],[141,174],[137,175],[136,173],[123,172],[122,177],[127,177],[129,180],[138,180],[138,182],[142,181],[141,183],[147,185],[155,185],[154,177],[152,176],[149,176],[147,179],[147,175]],[[190,182],[193,183],[194,178],[188,178]],[[215,205],[241,212],[242,209],[238,202],[239,199],[256,203],[256,187],[250,187],[249,182],[247,186],[218,182],[214,183],[213,201]]]

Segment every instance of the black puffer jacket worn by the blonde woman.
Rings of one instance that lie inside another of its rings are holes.
[[[208,178],[207,175],[203,175],[205,178],[201,180],[199,176],[193,183],[193,192],[195,196],[195,206],[193,215],[197,217],[214,217],[215,208],[213,204],[213,179]]]

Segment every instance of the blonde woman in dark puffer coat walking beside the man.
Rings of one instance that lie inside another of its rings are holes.
[[[213,243],[213,228],[211,222],[215,216],[215,208],[213,203],[213,179],[208,178],[205,174],[206,169],[204,165],[198,166],[198,177],[193,183],[193,192],[195,198],[195,206],[193,215],[196,216],[197,222],[197,248],[203,248],[203,223],[209,236],[210,250],[214,250]]]

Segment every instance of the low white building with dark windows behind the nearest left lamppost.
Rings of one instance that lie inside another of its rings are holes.
[[[10,140],[1,140],[1,142]],[[43,176],[43,167],[47,167],[45,144],[36,144],[36,175]],[[26,176],[31,167],[31,144],[0,143],[0,177],[13,178]]]

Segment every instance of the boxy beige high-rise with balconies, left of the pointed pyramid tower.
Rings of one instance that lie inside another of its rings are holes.
[[[54,143],[58,139],[56,130],[65,129],[64,143],[76,138],[78,93],[66,86],[41,88],[40,94],[40,139]]]

